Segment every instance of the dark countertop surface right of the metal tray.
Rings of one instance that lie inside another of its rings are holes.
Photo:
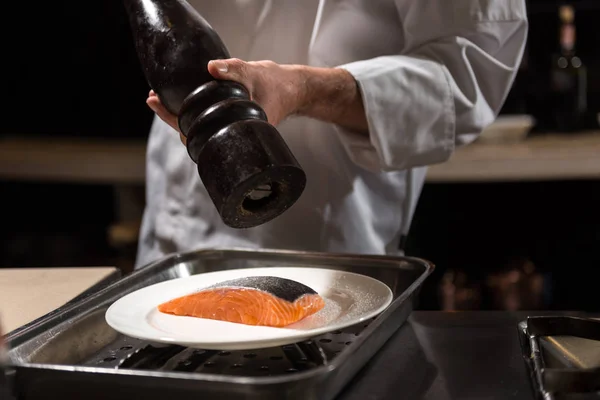
[[[517,323],[527,313],[414,312],[340,400],[533,400]]]

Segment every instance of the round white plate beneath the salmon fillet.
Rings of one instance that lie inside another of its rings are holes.
[[[278,276],[319,293],[325,307],[285,328],[250,326],[161,313],[157,306],[209,285],[245,276]],[[158,343],[211,350],[249,350],[282,346],[360,323],[381,313],[392,291],[368,276],[320,268],[268,267],[226,270],[157,283],[130,293],[106,311],[118,332]]]

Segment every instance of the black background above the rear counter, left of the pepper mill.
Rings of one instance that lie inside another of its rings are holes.
[[[147,136],[148,87],[122,1],[8,4],[0,40],[9,105],[0,133]]]

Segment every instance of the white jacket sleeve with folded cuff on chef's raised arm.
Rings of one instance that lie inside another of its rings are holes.
[[[369,135],[336,126],[354,162],[401,170],[446,161],[492,123],[527,39],[524,0],[396,0],[402,54],[341,65],[357,80]]]

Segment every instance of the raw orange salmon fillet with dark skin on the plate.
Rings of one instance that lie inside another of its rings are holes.
[[[325,306],[317,292],[299,282],[252,276],[221,282],[158,306],[163,313],[245,325],[284,327]]]

